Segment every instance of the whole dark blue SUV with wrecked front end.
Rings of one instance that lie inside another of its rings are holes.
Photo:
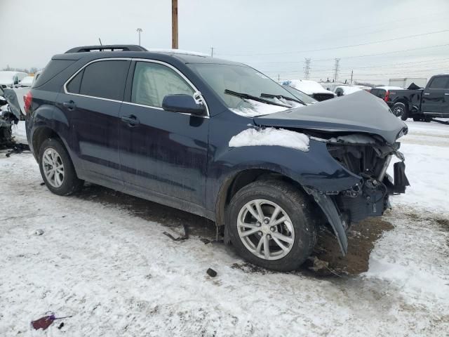
[[[386,173],[406,124],[369,93],[302,105],[241,63],[140,46],[53,56],[25,97],[51,192],[83,181],[214,220],[252,263],[293,270],[330,225],[381,216],[408,185]]]

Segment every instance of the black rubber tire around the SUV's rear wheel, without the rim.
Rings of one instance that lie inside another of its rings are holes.
[[[62,165],[64,166],[64,178],[62,179],[62,185],[60,185],[60,187],[52,186],[44,173],[43,154],[48,149],[53,149],[59,154]],[[39,149],[39,169],[41,171],[41,176],[43,181],[45,182],[46,187],[48,188],[48,190],[51,190],[51,192],[55,194],[70,195],[74,194],[74,192],[79,191],[81,187],[83,187],[84,181],[76,176],[72,160],[70,159],[65,146],[62,145],[61,141],[58,139],[48,138],[47,140],[43,141],[41,148]]]

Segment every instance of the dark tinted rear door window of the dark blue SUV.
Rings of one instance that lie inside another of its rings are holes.
[[[127,60],[93,62],[69,81],[67,92],[123,100],[129,65]]]

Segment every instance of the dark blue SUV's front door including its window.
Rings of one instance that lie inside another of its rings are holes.
[[[162,109],[166,95],[195,91],[169,65],[135,62],[119,126],[121,170],[128,188],[156,199],[168,196],[203,205],[209,119]]]

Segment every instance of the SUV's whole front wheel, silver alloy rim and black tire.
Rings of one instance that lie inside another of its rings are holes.
[[[227,227],[242,258],[272,270],[297,269],[316,242],[311,204],[296,187],[278,180],[239,190],[227,208]]]

